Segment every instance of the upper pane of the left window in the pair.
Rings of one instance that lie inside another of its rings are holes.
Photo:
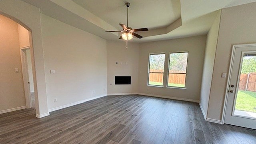
[[[151,54],[149,72],[164,72],[165,54]]]

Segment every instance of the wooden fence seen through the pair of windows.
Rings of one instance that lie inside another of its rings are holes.
[[[163,72],[163,70],[150,70],[150,72]],[[181,72],[181,71],[170,71],[170,72]],[[149,81],[150,82],[163,82],[164,74],[161,73],[150,73]],[[172,84],[185,84],[186,74],[169,74],[168,83]]]

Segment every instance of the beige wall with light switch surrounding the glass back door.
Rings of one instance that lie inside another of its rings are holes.
[[[232,45],[256,43],[255,10],[256,2],[222,10],[208,118],[222,119],[227,78],[221,78],[221,73],[228,72]]]

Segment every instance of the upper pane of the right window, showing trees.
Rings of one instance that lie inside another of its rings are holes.
[[[188,52],[170,53],[169,72],[186,73]]]

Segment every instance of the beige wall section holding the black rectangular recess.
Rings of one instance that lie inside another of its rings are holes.
[[[138,92],[139,44],[107,41],[108,94]],[[116,64],[118,62],[118,64]],[[131,76],[130,85],[115,85],[115,76]]]

